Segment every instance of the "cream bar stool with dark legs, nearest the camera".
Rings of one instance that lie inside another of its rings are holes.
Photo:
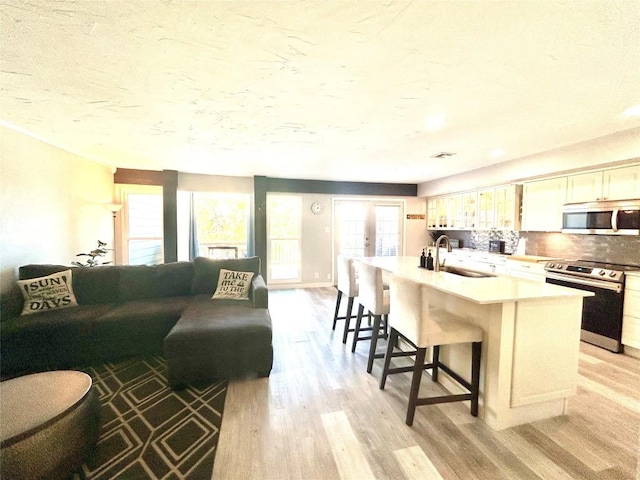
[[[380,389],[384,389],[387,375],[413,372],[409,405],[407,407],[407,425],[413,424],[416,406],[436,403],[471,400],[471,415],[478,416],[478,394],[480,386],[480,354],[482,351],[482,329],[466,322],[462,318],[443,309],[429,305],[429,289],[413,280],[391,276],[391,304],[393,311],[390,319],[390,334],[384,357]],[[409,367],[390,368],[393,347],[398,337],[402,337],[415,348],[415,363]],[[471,382],[468,382],[447,365],[439,361],[441,345],[471,343]],[[432,363],[425,363],[428,347],[433,347]],[[432,370],[431,379],[438,380],[438,370],[449,374],[469,393],[418,398],[422,371]]]

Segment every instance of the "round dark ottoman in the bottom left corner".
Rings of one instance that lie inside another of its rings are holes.
[[[6,479],[60,479],[78,471],[100,435],[91,377],[35,373],[0,383],[0,464]]]

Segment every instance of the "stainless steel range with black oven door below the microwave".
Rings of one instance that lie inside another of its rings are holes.
[[[624,272],[639,267],[575,260],[547,262],[544,268],[547,283],[595,293],[584,299],[580,339],[621,352]]]

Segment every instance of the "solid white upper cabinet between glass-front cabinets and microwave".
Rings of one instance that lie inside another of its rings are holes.
[[[522,230],[562,230],[562,205],[565,203],[566,192],[567,177],[525,183],[522,194]]]

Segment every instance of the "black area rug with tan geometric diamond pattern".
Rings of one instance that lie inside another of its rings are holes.
[[[84,478],[211,479],[227,379],[174,391],[161,356],[80,370],[93,379],[102,413],[97,450],[83,465]]]

